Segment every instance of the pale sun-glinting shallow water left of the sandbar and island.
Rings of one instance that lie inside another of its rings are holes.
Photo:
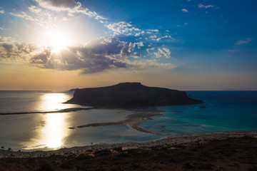
[[[51,111],[77,108],[64,104],[72,93],[0,91],[0,113]],[[124,120],[126,110],[79,110],[69,113],[0,115],[0,146],[13,150],[54,150],[61,147],[99,142],[147,141],[158,137],[133,130],[126,125],[76,128],[88,123]],[[75,129],[69,129],[69,128]]]

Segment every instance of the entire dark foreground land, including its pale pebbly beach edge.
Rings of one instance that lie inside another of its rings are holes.
[[[256,133],[181,136],[134,142],[136,148],[128,145],[106,145],[99,150],[104,145],[64,148],[51,155],[0,150],[9,156],[1,158],[0,170],[257,170]]]

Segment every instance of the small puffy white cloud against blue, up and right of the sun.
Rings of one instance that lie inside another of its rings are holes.
[[[140,31],[138,28],[133,27],[131,24],[126,23],[125,21],[120,21],[119,23],[108,24],[106,25],[111,31],[114,31],[115,34],[126,33],[129,31]],[[144,32],[143,32],[144,33]]]

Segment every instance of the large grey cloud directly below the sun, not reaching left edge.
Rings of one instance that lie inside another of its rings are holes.
[[[86,46],[67,47],[59,56],[46,48],[31,58],[31,64],[40,68],[59,70],[81,70],[81,73],[98,73],[116,68],[173,68],[171,63],[129,61],[129,56],[141,56],[132,52],[143,46],[143,42],[126,43],[119,38],[98,38]],[[61,58],[60,58],[61,56]]]

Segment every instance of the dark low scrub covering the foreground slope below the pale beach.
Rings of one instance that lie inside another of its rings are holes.
[[[51,155],[0,160],[0,170],[256,170],[257,139],[213,140],[206,144],[156,146],[123,151],[88,151],[81,155]]]

